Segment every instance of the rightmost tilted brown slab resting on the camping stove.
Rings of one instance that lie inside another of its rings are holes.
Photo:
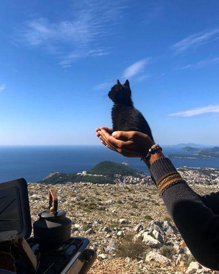
[[[30,269],[30,271],[35,271],[37,268],[37,258],[23,237],[18,240],[18,251],[24,264]]]

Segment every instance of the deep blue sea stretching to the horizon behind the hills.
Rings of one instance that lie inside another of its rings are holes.
[[[164,147],[167,154],[189,154],[182,148]],[[146,165],[139,158],[126,158],[104,146],[0,146],[0,182],[24,178],[37,182],[50,172],[81,172],[102,161],[127,162],[129,167],[149,175]],[[219,158],[171,159],[177,167],[219,168]]]

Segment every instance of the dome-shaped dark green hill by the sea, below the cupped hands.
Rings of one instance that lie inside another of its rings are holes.
[[[89,174],[102,174],[110,177],[114,177],[114,174],[135,176],[137,174],[143,174],[143,172],[133,169],[123,164],[118,164],[111,161],[104,161],[97,164],[92,169],[88,170]]]

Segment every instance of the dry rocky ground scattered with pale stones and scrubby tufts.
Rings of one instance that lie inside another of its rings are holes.
[[[32,221],[48,208],[48,189],[72,220],[72,236],[97,250],[89,274],[219,273],[195,262],[153,185],[28,185]],[[199,194],[218,185],[192,185]]]

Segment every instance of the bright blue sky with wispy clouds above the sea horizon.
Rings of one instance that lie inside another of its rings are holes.
[[[218,1],[0,3],[0,144],[97,144],[129,79],[158,143],[219,144]]]

